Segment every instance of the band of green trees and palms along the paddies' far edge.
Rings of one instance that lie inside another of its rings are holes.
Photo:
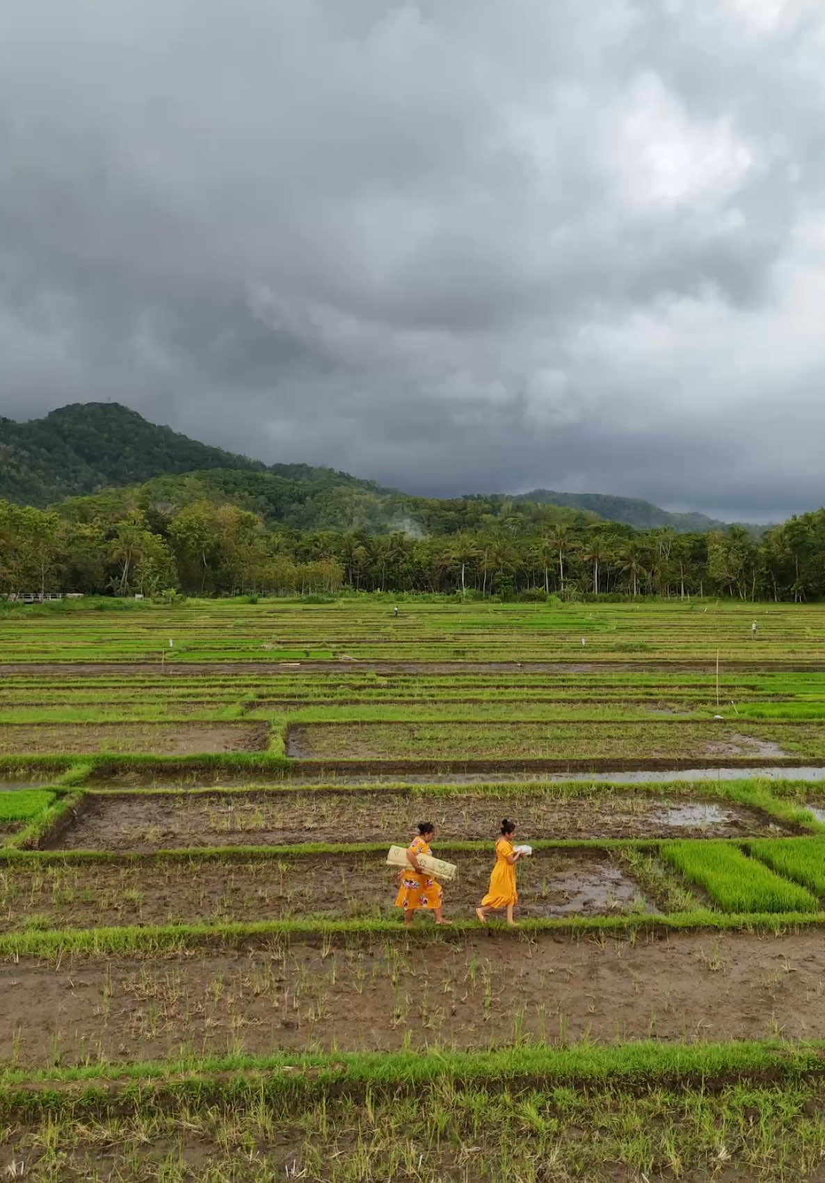
[[[0,593],[131,596],[179,589],[334,595],[342,589],[565,599],[825,596],[825,509],[754,538],[634,530],[520,513],[452,534],[266,528],[232,504],[123,510],[88,498],[39,510],[0,502]]]

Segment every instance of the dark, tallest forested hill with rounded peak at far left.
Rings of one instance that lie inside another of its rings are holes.
[[[117,402],[75,402],[22,424],[0,419],[0,498],[18,505],[44,506],[110,486],[210,468],[270,472],[321,486],[376,487],[331,468],[268,467],[150,424]]]

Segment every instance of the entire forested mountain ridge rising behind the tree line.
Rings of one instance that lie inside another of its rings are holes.
[[[117,402],[75,402],[26,422],[0,418],[0,498],[43,508],[147,483],[147,497],[186,500],[223,496],[270,522],[298,529],[426,532],[438,509],[443,528],[450,523],[460,530],[468,504],[478,500],[498,509],[505,503],[560,506],[640,530],[669,526],[678,532],[705,532],[727,528],[727,523],[703,513],[672,513],[650,502],[606,493],[534,489],[511,497],[414,497],[334,468],[266,465],[152,424]]]

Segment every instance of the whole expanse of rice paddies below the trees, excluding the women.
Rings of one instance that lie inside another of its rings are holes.
[[[0,673],[0,1177],[825,1179],[825,608],[21,607]]]

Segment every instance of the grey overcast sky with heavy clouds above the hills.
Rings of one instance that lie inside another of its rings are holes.
[[[412,492],[825,500],[821,0],[26,0],[0,411]]]

